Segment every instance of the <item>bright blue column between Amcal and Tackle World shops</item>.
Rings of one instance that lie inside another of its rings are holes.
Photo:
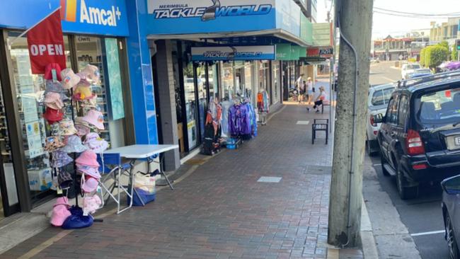
[[[127,38],[128,62],[132,108],[134,111],[134,134],[137,144],[158,144],[151,57],[146,38],[146,1],[126,1],[130,37]]]

